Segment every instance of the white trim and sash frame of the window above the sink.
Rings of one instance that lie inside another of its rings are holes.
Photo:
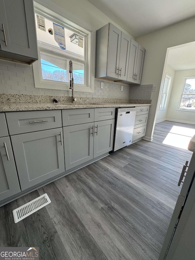
[[[65,17],[62,17],[58,15],[57,13],[53,12],[52,10],[44,7],[43,5],[40,5],[37,2],[34,2],[34,12],[38,13],[41,16],[44,16],[45,18],[52,20],[56,23],[60,23],[61,25],[68,25],[69,28],[77,28],[81,34],[83,32],[83,35],[87,35],[87,44],[85,49],[85,55],[86,55],[86,62],[85,62],[85,82],[87,84],[74,84],[74,90],[79,92],[89,92],[94,93],[94,78],[92,77],[92,32],[90,30],[86,30],[79,25],[76,25],[75,23],[69,21]],[[57,19],[56,19],[57,17]],[[41,62],[40,62],[40,50],[44,51],[41,47],[38,47],[38,61],[33,63],[33,71],[34,71],[34,82],[35,87],[37,88],[45,88],[45,89],[52,89],[52,90],[66,90],[71,91],[69,89],[69,83],[67,82],[59,82],[59,81],[52,81],[52,80],[43,80],[42,79],[42,72],[41,72]],[[54,54],[52,51],[50,51],[51,54]],[[55,53],[56,55],[56,53]],[[60,57],[66,57],[66,55],[59,54]],[[68,59],[72,59],[67,56]],[[79,59],[72,59],[75,61],[80,61]],[[84,62],[83,62],[84,63]]]

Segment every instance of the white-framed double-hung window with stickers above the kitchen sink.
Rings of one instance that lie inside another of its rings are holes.
[[[71,60],[75,90],[94,92],[90,31],[39,4],[35,4],[35,22],[39,54],[33,64],[35,87],[69,90]]]

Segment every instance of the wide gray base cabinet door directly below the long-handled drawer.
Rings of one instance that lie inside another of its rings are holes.
[[[11,136],[22,191],[65,171],[62,128]]]

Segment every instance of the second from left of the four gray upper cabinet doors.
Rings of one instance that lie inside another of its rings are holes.
[[[119,59],[119,80],[127,80],[131,38],[122,32]]]

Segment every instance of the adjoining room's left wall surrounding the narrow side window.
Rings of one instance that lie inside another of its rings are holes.
[[[165,109],[161,109],[161,110],[159,110],[159,107],[158,107],[156,121],[163,120],[166,118],[167,111],[168,111],[168,105],[169,105],[169,102],[171,102],[170,96],[171,96],[171,90],[172,90],[172,85],[173,85],[174,76],[175,76],[175,70],[172,67],[170,67],[169,65],[166,65],[165,73],[168,73],[171,76],[171,83],[170,83],[170,87],[169,87],[169,91],[168,91],[166,107],[165,107]],[[164,81],[165,81],[165,77],[163,78],[163,84],[164,84]]]

